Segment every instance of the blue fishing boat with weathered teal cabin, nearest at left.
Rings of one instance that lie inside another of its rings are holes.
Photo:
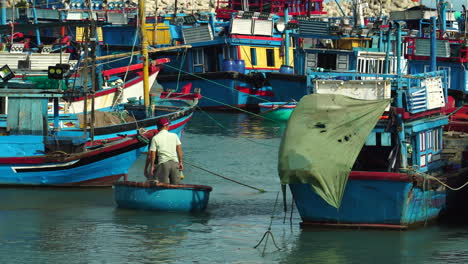
[[[0,185],[2,186],[110,186],[136,161],[139,151],[155,131],[86,147],[87,135],[58,128],[58,111],[53,126],[47,122],[47,102],[58,109],[59,89],[37,89],[28,81],[8,81],[13,75],[2,67],[4,80],[0,96],[8,96],[7,126],[0,144]]]

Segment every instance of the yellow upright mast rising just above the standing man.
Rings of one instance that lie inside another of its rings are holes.
[[[148,39],[146,38],[146,8],[145,0],[138,0],[140,7],[140,30],[141,30],[141,56],[143,57],[143,98],[145,107],[149,106],[149,60],[148,60]]]

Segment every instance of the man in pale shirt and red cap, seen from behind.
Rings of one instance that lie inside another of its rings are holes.
[[[179,184],[180,171],[184,169],[182,143],[177,134],[169,132],[169,124],[166,118],[157,121],[159,133],[151,139],[145,176],[160,183]]]

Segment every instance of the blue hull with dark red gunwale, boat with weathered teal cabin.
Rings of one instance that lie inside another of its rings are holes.
[[[141,137],[151,138],[154,132]],[[110,187],[129,168],[147,143],[127,138],[77,154],[0,157],[0,185],[41,187]]]

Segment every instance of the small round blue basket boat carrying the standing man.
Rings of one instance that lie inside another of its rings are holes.
[[[208,206],[212,188],[204,185],[153,182],[114,183],[115,202],[120,208],[200,212]]]

